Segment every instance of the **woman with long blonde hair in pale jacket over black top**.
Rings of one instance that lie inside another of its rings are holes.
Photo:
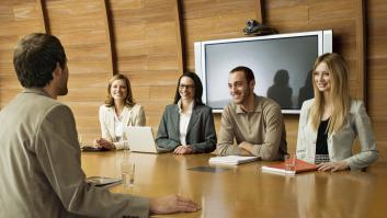
[[[325,54],[317,58],[312,73],[315,99],[301,107],[297,158],[319,163],[320,171],[367,167],[377,159],[375,138],[363,102],[350,96],[343,58]],[[353,154],[356,136],[361,151]]]

